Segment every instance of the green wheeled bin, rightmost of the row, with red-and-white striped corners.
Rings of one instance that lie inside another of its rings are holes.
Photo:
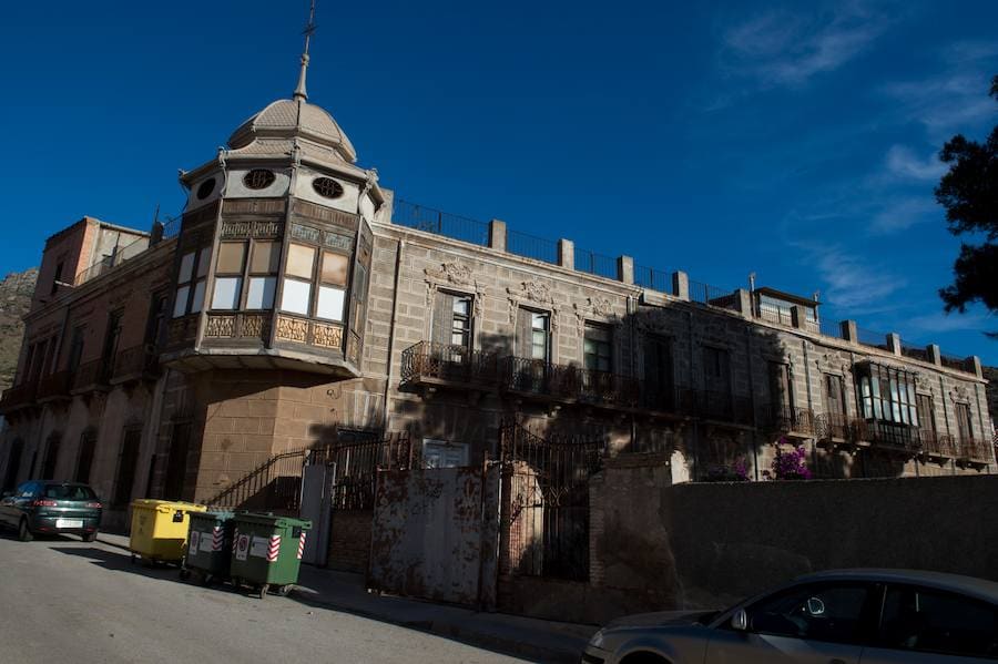
[[[312,521],[253,512],[233,519],[230,576],[236,588],[251,585],[266,596],[271,589],[287,595],[298,581],[305,533]]]

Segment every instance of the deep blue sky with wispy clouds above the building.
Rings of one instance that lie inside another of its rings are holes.
[[[688,7],[696,4],[695,7]],[[180,211],[177,168],[296,80],[305,0],[4,8],[0,272],[90,214]],[[998,364],[945,316],[950,135],[998,122],[998,3],[319,0],[310,101],[399,196]]]

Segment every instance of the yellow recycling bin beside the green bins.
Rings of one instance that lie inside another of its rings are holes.
[[[176,563],[184,559],[191,512],[204,512],[203,504],[170,500],[132,501],[132,537],[129,549],[150,564]]]

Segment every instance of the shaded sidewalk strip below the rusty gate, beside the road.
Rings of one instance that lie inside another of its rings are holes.
[[[128,550],[126,537],[100,533],[98,541]],[[536,662],[579,662],[582,648],[597,631],[577,625],[508,615],[408,597],[368,593],[364,576],[348,572],[302,568],[291,599],[355,615],[429,632],[471,645]]]

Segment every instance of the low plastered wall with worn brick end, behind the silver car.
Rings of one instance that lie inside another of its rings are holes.
[[[994,476],[675,486],[666,477],[664,460],[649,460],[593,478],[590,582],[603,600],[592,619],[720,607],[827,569],[998,580]]]

